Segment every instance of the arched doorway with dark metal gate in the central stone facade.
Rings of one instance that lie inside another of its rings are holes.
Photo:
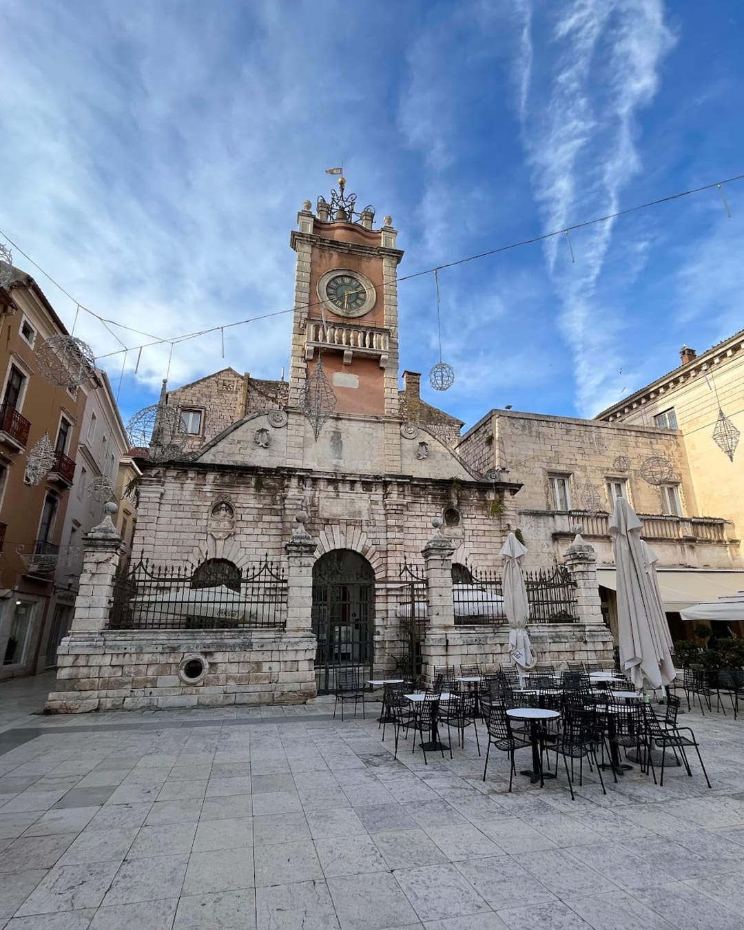
[[[372,675],[374,661],[375,571],[351,549],[326,552],[312,566],[312,631],[318,640],[315,679],[318,692],[334,685],[340,666],[361,667]]]

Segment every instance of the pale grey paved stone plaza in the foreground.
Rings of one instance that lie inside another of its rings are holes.
[[[545,789],[492,753],[431,755],[309,707],[32,716],[48,676],[0,685],[7,930],[740,930],[744,742],[684,715],[694,768],[663,788]],[[485,731],[482,737],[485,744]],[[529,751],[517,767],[529,762]]]

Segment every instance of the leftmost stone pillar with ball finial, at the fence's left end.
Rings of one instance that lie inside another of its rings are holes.
[[[70,634],[98,633],[106,628],[113,604],[113,578],[126,546],[111,521],[111,509],[98,526],[83,537],[83,572],[75,600]]]

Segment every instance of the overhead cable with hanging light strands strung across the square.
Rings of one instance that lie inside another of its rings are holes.
[[[643,204],[629,206],[623,210],[616,210],[614,213],[608,213],[602,217],[594,217],[593,219],[586,219],[578,223],[573,223],[570,226],[565,226],[565,227],[562,227],[561,229],[553,230],[550,233],[540,233],[539,235],[530,236],[529,238],[526,238],[526,239],[520,239],[515,242],[508,243],[507,245],[504,245],[504,246],[497,246],[495,248],[490,248],[490,249],[485,250],[484,252],[478,252],[474,255],[469,255],[462,259],[455,259],[453,261],[447,261],[442,264],[436,265],[433,268],[423,269],[422,271],[419,271],[419,272],[411,272],[410,274],[405,274],[405,275],[398,277],[396,281],[398,284],[402,284],[405,281],[411,281],[414,278],[420,278],[427,274],[432,274],[436,276],[438,272],[445,271],[446,269],[456,268],[458,265],[465,265],[472,261],[477,261],[479,259],[486,259],[491,256],[499,255],[502,252],[511,251],[512,249],[515,249],[515,248],[536,245],[538,243],[546,242],[549,239],[555,238],[556,236],[565,236],[566,242],[568,243],[568,246],[569,246],[571,260],[572,262],[575,263],[573,247],[571,246],[570,233],[574,233],[582,229],[587,229],[588,227],[598,225],[599,223],[609,222],[612,219],[619,219],[620,217],[629,216],[631,213],[637,213],[641,210],[650,209],[651,207],[657,207],[657,206],[662,206],[664,204],[669,204],[671,203],[671,201],[681,200],[684,197],[689,197],[689,196],[692,196],[693,194],[703,193],[706,191],[718,190],[718,193],[720,194],[721,200],[724,205],[724,209],[726,211],[726,215],[730,219],[731,210],[725,198],[724,185],[734,184],[740,180],[744,180],[744,174],[738,174],[731,178],[711,181],[711,183],[709,184],[702,184],[699,187],[689,188],[687,190],[679,191],[677,193],[671,193],[665,197],[658,197],[656,200],[646,201]],[[153,333],[144,332],[143,330],[138,329],[134,326],[126,326],[126,324],[118,323],[116,320],[112,320],[108,317],[102,316],[100,313],[97,313],[91,310],[89,307],[86,307],[84,303],[81,303],[79,300],[75,299],[73,295],[65,287],[61,286],[60,283],[51,274],[46,272],[46,270],[42,268],[41,265],[38,264],[38,262],[34,261],[31,258],[31,256],[29,256],[26,252],[24,252],[23,249],[20,248],[20,246],[17,243],[15,243],[9,236],[7,236],[7,234],[4,233],[2,230],[0,230],[0,238],[5,239],[5,241],[10,246],[13,246],[13,248],[20,255],[22,255],[24,259],[26,259],[30,264],[32,264],[33,267],[37,271],[41,272],[46,277],[47,281],[49,281],[52,285],[57,287],[60,290],[60,292],[65,295],[65,297],[70,299],[70,301],[75,305],[75,322],[77,321],[78,313],[81,310],[83,312],[86,312],[89,316],[92,316],[94,319],[98,320],[100,324],[102,324],[108,330],[108,332],[113,336],[113,339],[116,339],[119,345],[122,346],[121,349],[116,350],[115,352],[106,352],[104,354],[96,356],[97,363],[99,363],[100,361],[106,358],[113,358],[116,355],[125,354],[126,356],[128,352],[139,352],[141,355],[141,352],[143,349],[149,349],[156,345],[170,345],[171,352],[172,352],[173,346],[178,345],[181,342],[186,342],[191,339],[199,339],[202,336],[208,336],[213,333],[222,334],[222,348],[223,348],[223,355],[224,355],[224,331],[226,329],[233,329],[235,326],[246,326],[249,323],[256,323],[259,320],[268,320],[268,319],[272,319],[272,317],[284,316],[287,313],[295,312],[295,308],[291,307],[287,310],[279,310],[279,311],[274,311],[274,312],[269,312],[269,313],[260,313],[256,316],[246,317],[245,320],[237,320],[232,323],[222,324],[220,326],[210,326],[207,329],[196,330],[192,333],[184,333],[184,334],[181,334],[180,336],[174,336],[170,338],[163,338],[163,337],[155,336],[153,335]],[[373,286],[376,289],[381,287],[381,285],[373,285]],[[316,300],[312,303],[307,304],[303,309],[310,310],[314,307],[322,307],[322,306],[324,306],[323,301]],[[134,346],[126,346],[125,343],[121,339],[119,339],[115,333],[113,333],[110,326],[116,326],[118,329],[126,330],[127,332],[134,333],[137,336],[143,336],[146,339],[152,339],[152,341],[143,342],[139,345],[134,345]],[[74,325],[73,325],[73,330],[74,330]],[[140,360],[138,358],[138,366],[139,366],[139,361]],[[126,363],[126,358],[125,358],[125,363]]]

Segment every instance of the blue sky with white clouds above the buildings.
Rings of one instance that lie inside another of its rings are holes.
[[[402,275],[744,172],[738,0],[5,0],[0,33],[0,229],[158,337],[291,307],[289,230],[341,159],[392,214]],[[426,399],[468,425],[507,404],[591,416],[741,328],[744,182],[725,195],[732,219],[709,192],[573,233],[573,263],[554,239],[441,272],[457,379],[422,379]],[[427,373],[432,276],[399,305],[401,367]],[[177,345],[171,386],[278,378],[290,318],[229,330],[224,359],[219,335]],[[76,334],[121,348],[85,314]],[[135,374],[127,354],[125,417],[167,356]]]

